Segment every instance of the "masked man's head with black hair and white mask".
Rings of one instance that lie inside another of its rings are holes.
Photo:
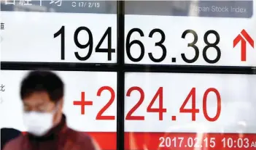
[[[20,96],[23,100],[24,123],[28,132],[43,136],[61,121],[64,85],[50,71],[32,71],[23,79]]]

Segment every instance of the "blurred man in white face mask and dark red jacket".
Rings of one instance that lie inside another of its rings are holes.
[[[62,113],[63,93],[63,82],[53,72],[30,72],[20,88],[28,134],[10,141],[4,150],[98,149],[89,136],[66,126],[66,116]]]

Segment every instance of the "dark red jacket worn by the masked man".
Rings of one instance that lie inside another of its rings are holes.
[[[21,135],[13,139],[4,150],[98,150],[98,146],[85,133],[79,133],[66,126],[63,115],[59,125],[51,129],[45,136],[36,137],[31,134]]]

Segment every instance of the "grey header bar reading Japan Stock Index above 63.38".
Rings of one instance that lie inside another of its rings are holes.
[[[252,17],[253,1],[125,1],[125,14]]]

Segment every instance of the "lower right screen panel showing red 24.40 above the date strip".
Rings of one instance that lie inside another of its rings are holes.
[[[125,149],[255,149],[255,78],[126,72]]]

